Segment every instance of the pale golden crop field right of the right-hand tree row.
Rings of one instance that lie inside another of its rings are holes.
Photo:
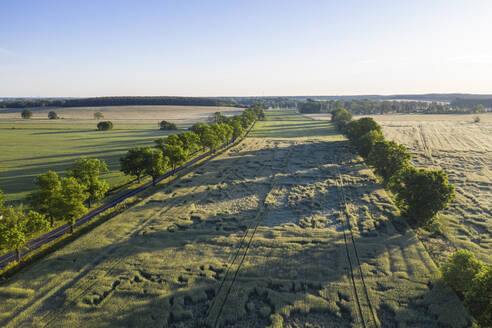
[[[407,146],[417,167],[442,168],[456,200],[440,216],[444,237],[426,246],[440,259],[456,248],[492,263],[492,114],[376,115],[385,136]]]

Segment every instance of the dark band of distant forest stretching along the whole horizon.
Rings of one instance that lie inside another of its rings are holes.
[[[4,98],[0,108],[97,107],[97,106],[230,106],[253,104],[296,107],[301,113],[331,112],[346,108],[353,114],[386,113],[481,113],[492,109],[492,95],[423,94],[291,97],[94,97],[94,98]]]

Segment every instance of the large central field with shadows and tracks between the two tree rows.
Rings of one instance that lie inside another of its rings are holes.
[[[331,124],[268,119],[3,282],[0,325],[469,327]]]

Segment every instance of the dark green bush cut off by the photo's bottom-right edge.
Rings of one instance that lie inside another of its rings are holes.
[[[492,327],[492,265],[475,275],[465,305],[482,327]]]

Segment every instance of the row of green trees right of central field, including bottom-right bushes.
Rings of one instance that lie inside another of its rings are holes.
[[[332,122],[393,193],[410,223],[440,230],[437,214],[455,197],[446,173],[411,166],[411,154],[405,146],[385,140],[381,126],[370,117],[352,120],[351,113],[338,108],[332,111]],[[492,265],[484,265],[470,251],[459,250],[441,266],[441,273],[443,280],[465,300],[478,323],[492,327]]]

